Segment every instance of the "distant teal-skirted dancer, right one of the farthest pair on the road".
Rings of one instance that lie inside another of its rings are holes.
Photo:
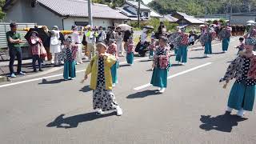
[[[228,26],[224,26],[219,33],[219,38],[222,41],[222,51],[226,53],[230,45],[231,30]]]

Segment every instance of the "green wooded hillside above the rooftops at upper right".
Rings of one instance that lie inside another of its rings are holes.
[[[154,0],[149,3],[151,8],[160,14],[174,11],[191,15],[226,14],[256,11],[256,0]]]

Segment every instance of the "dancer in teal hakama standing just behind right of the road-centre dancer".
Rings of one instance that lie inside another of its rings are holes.
[[[178,44],[178,50],[176,54],[176,61],[178,64],[185,65],[187,62],[187,46],[189,45],[189,36],[185,34],[185,27],[181,28],[179,33],[180,43]]]

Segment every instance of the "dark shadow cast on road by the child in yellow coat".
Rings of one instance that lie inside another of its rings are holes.
[[[70,129],[70,128],[78,127],[79,123],[93,121],[98,118],[110,117],[110,116],[116,115],[116,113],[112,112],[109,114],[102,114],[102,115],[97,115],[95,113],[78,114],[78,115],[74,115],[74,116],[67,117],[67,118],[64,118],[64,115],[65,114],[61,114],[60,116],[58,116],[57,118],[54,119],[54,122],[50,122],[46,126]]]

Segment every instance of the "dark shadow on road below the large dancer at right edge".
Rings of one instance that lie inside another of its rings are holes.
[[[237,115],[230,115],[228,113],[211,117],[211,115],[201,115],[200,121],[202,125],[199,126],[202,130],[218,130],[226,133],[230,133],[233,126],[238,126],[238,122],[247,120],[247,118],[241,118]]]

